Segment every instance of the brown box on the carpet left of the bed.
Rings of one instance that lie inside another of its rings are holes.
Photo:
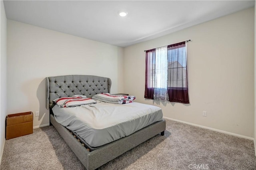
[[[6,116],[6,140],[33,133],[33,113],[24,112]]]

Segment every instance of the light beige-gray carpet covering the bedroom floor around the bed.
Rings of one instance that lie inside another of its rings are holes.
[[[99,170],[255,170],[252,140],[166,120],[157,135]],[[54,127],[6,140],[1,170],[83,170]]]

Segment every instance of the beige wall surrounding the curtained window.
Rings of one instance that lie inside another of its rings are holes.
[[[190,39],[190,104],[144,99],[144,50]],[[124,48],[124,77],[125,93],[161,107],[165,117],[253,137],[254,8]]]

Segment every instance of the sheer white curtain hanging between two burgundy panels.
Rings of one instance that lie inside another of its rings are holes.
[[[156,48],[154,99],[168,101],[168,57],[167,46]]]

